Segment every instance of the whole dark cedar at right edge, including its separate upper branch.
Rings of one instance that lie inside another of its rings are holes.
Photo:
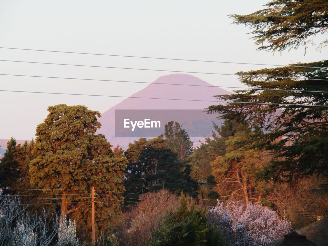
[[[254,29],[257,44],[269,42],[259,49],[281,51],[305,45],[309,36],[326,33],[327,6],[319,0],[275,0],[268,9],[232,17],[235,23]],[[286,176],[290,181],[299,175],[328,177],[328,61],[237,74],[242,83],[255,89],[216,96],[230,103],[210,106],[208,112],[246,121],[256,130],[251,141],[277,158],[261,176],[275,180]]]

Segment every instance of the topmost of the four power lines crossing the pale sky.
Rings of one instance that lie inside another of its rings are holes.
[[[178,59],[178,58],[164,58],[164,57],[150,57],[150,56],[99,54],[99,53],[72,52],[72,51],[50,51],[50,50],[20,49],[20,48],[9,48],[9,47],[0,47],[0,49],[24,50],[24,51],[44,51],[44,52],[69,53],[69,54],[84,54],[84,55],[103,55],[103,56],[130,57],[130,58],[146,58],[146,59],[173,60],[173,61],[213,62],[213,63],[261,65],[261,66],[277,66],[277,67],[296,67],[296,68],[320,68],[320,67],[297,66],[297,65],[277,65],[277,64],[248,63],[248,62],[208,61],[208,60],[192,60],[192,59]]]

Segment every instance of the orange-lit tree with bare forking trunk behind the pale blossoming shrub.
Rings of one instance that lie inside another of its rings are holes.
[[[251,130],[235,133],[226,141],[227,153],[211,162],[215,190],[221,197],[260,202],[271,190],[268,182],[256,179],[256,173],[267,165],[270,156],[247,146],[251,134]]]

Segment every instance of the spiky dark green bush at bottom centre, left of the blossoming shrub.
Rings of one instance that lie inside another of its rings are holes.
[[[150,245],[206,245],[206,233],[210,229],[206,227],[205,214],[205,210],[197,211],[194,203],[189,209],[188,199],[182,194],[179,208],[166,216],[164,226],[156,231],[156,240]]]

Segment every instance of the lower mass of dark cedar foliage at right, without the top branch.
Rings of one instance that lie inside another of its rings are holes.
[[[328,78],[328,60],[294,65],[303,67],[262,69],[238,74],[242,75],[241,82],[255,88],[328,91],[328,83],[325,81]],[[216,97],[220,100],[251,103],[214,105],[208,108],[208,112],[220,113],[224,119],[245,121],[253,127],[254,136],[250,139],[256,142],[253,147],[272,151],[278,157],[261,173],[263,177],[278,179],[283,175],[292,178],[299,174],[328,176],[327,107],[316,106],[327,105],[328,93],[250,89]]]

